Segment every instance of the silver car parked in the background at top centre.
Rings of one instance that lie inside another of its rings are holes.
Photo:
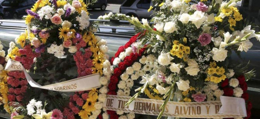
[[[153,11],[147,12],[152,6],[151,0],[125,0],[120,6],[119,12],[137,18],[151,18]]]

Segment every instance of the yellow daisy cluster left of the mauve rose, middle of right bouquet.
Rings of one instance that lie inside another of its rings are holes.
[[[183,58],[184,54],[190,54],[190,47],[179,44],[179,41],[174,40],[172,50],[170,50],[170,54],[173,56],[177,56],[178,58]]]

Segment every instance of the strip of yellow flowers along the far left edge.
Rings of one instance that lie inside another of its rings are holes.
[[[10,113],[10,108],[8,106],[8,98],[7,98],[7,93],[8,93],[7,71],[2,70],[0,76],[2,77],[2,81],[0,82],[0,93],[2,95],[2,102],[4,104],[5,111]]]

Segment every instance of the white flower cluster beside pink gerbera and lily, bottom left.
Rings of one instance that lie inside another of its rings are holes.
[[[42,101],[31,99],[31,101],[29,101],[29,104],[26,106],[27,114],[30,116],[35,114],[35,112],[36,114],[40,114],[42,111],[45,111],[44,109],[42,109],[42,106]]]

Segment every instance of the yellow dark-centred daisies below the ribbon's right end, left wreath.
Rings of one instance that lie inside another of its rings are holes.
[[[79,112],[79,116],[82,119],[87,119],[91,115],[91,111],[94,111],[96,100],[98,99],[98,90],[93,89],[88,93],[89,98],[86,103],[82,106],[82,110]]]

